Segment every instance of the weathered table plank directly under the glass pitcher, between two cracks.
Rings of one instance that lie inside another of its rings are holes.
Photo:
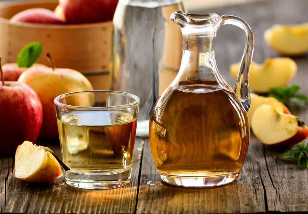
[[[216,188],[184,188],[164,183],[145,142],[137,213],[255,213],[265,212],[261,167],[265,165],[258,142],[252,142],[239,179]],[[267,174],[267,172],[266,172]]]

